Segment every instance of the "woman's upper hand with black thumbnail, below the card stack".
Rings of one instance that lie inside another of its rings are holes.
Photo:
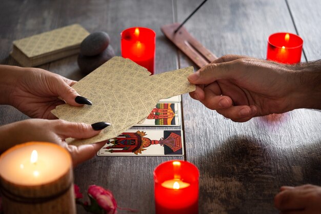
[[[57,119],[50,111],[57,105],[91,105],[71,87],[75,81],[40,69],[0,65],[0,104],[9,104],[31,118]],[[1,87],[2,86],[2,87]]]

